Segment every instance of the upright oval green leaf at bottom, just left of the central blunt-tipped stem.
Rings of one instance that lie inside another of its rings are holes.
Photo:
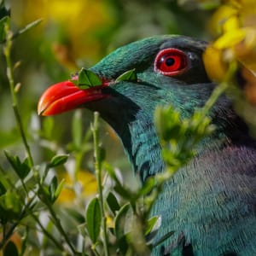
[[[92,201],[90,201],[87,208],[86,224],[91,241],[93,243],[96,243],[98,236],[100,235],[102,224],[102,212],[100,202],[96,197]]]

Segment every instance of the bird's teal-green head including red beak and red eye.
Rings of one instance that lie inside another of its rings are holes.
[[[131,141],[141,140],[140,144],[143,138],[131,133],[151,129],[157,105],[172,104],[185,117],[211,95],[214,84],[201,58],[206,46],[183,36],[156,36],[127,44],[90,68],[102,84],[86,90],[71,81],[55,84],[41,96],[38,113],[52,115],[73,108],[98,111],[117,131],[132,158],[137,146]],[[131,69],[136,79],[116,80]]]

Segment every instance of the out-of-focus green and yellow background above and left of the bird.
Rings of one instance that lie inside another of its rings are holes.
[[[90,67],[113,49],[140,38],[184,34],[208,39],[206,20],[211,11],[199,8],[199,3],[191,0],[6,1],[14,32],[33,20],[43,19],[16,38],[12,49],[13,63],[20,61],[20,67],[15,70],[15,83],[21,84],[19,108],[35,162],[49,160],[54,152],[72,151],[67,143],[72,140],[73,113],[54,118],[37,115],[38,98],[50,84],[69,79],[81,67]],[[25,150],[16,129],[0,47],[0,163],[5,167],[3,149],[20,157],[25,156]],[[92,113],[84,110],[81,118],[85,132],[90,127]],[[108,161],[124,170],[130,169],[119,140],[103,122],[101,139]],[[84,154],[83,168],[93,169],[92,163],[92,154]]]

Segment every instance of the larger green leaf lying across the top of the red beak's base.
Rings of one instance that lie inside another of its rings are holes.
[[[90,87],[98,86],[102,84],[102,79],[89,69],[82,69],[79,71],[78,87],[80,89],[88,89]]]

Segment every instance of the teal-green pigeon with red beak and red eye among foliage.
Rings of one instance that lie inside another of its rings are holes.
[[[202,61],[207,45],[196,38],[158,35],[121,46],[89,68],[101,83],[88,89],[72,80],[54,84],[40,97],[38,113],[99,112],[145,182],[166,168],[155,108],[171,104],[183,118],[190,117],[218,86]],[[117,79],[131,70],[135,79]],[[152,255],[256,255],[256,141],[229,96],[220,96],[208,115],[216,129],[154,203],[152,214],[161,218],[156,239],[174,234]]]

